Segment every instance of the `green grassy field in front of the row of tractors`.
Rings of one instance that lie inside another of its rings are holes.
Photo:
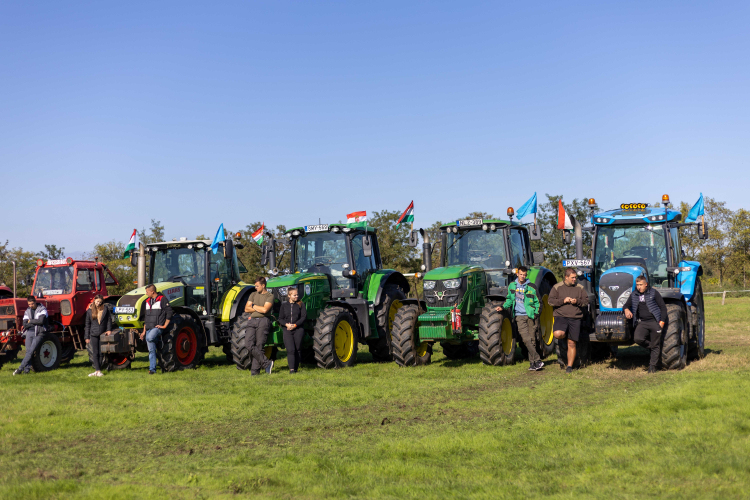
[[[747,498],[750,299],[707,300],[707,356],[565,375],[479,360],[250,378],[0,370],[0,498]]]

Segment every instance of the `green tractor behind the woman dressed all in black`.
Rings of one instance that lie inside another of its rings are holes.
[[[373,359],[390,361],[391,328],[396,311],[409,293],[403,274],[383,269],[377,232],[364,222],[316,224],[288,230],[288,274],[268,280],[274,295],[273,315],[289,288],[296,288],[307,309],[303,358],[320,368],[352,366],[359,344],[367,344]],[[276,241],[266,233],[262,265],[277,273]],[[308,338],[309,337],[309,338]],[[266,342],[283,347],[281,326],[274,320]],[[250,367],[244,328],[235,328],[232,352],[238,368]]]

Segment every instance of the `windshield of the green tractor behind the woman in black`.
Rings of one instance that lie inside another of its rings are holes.
[[[349,278],[343,276],[348,264],[345,234],[308,233],[295,240],[293,272],[329,274],[339,287],[349,286]]]

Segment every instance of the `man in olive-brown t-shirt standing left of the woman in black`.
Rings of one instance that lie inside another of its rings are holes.
[[[263,352],[263,346],[266,344],[268,332],[271,329],[272,307],[273,294],[266,290],[266,278],[259,276],[255,280],[255,291],[250,294],[245,304],[245,314],[250,315],[245,336],[247,350],[252,358],[250,375],[258,375],[261,368],[269,375],[273,370],[273,361],[268,359]]]

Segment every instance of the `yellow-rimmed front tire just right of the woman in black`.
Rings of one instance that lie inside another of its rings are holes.
[[[357,362],[357,322],[343,307],[323,309],[315,322],[313,349],[320,368],[343,368]]]

